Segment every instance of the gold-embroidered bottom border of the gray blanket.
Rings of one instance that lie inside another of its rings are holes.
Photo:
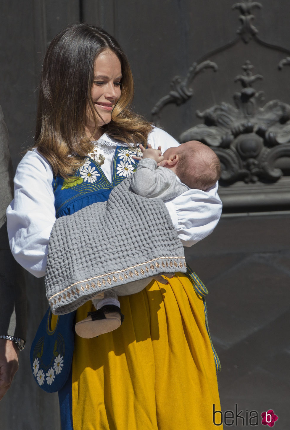
[[[183,256],[154,258],[153,260],[136,264],[135,266],[127,267],[123,270],[116,270],[115,272],[105,273],[73,283],[69,287],[52,295],[48,301],[52,312],[60,314],[66,309],[70,298],[73,298],[73,307],[77,309],[85,301],[88,301],[88,296],[93,297],[99,291],[104,291],[104,289],[113,289],[114,287],[124,284],[135,283],[135,281],[139,280],[140,275],[142,275],[143,281],[149,284],[154,276],[160,276],[162,274],[166,276],[169,275],[169,273],[176,272],[185,273],[186,268],[187,266]],[[134,288],[132,285],[132,288],[134,292],[137,292],[135,291],[136,287]],[[72,310],[72,304],[69,304],[69,308]]]

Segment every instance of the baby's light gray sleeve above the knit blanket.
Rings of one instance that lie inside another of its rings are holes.
[[[139,196],[162,200],[173,199],[187,190],[187,187],[176,181],[175,173],[166,167],[157,167],[156,161],[151,158],[139,161],[131,188]]]

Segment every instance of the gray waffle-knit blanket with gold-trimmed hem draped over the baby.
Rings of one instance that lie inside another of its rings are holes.
[[[58,218],[51,231],[45,272],[54,314],[76,310],[99,292],[141,291],[153,276],[186,272],[184,249],[160,199],[118,184],[107,202]]]

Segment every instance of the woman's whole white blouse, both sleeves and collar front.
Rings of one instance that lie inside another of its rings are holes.
[[[154,128],[148,136],[148,143],[162,152],[178,142],[168,133]],[[112,181],[112,160],[117,145],[106,134],[98,145],[106,157],[101,168]],[[19,163],[14,178],[14,200],[7,208],[7,229],[12,254],[21,266],[34,276],[45,275],[48,241],[54,224],[53,172],[51,166],[37,150],[28,151]],[[165,202],[178,237],[184,246],[192,246],[208,236],[221,216],[221,200],[216,184],[208,191],[185,191],[178,197]],[[154,226],[153,226],[154,227]]]

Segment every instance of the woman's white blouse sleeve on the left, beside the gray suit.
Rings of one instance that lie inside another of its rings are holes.
[[[55,221],[53,173],[37,150],[28,151],[14,178],[7,208],[9,244],[16,261],[34,276],[45,274],[48,241]]]

